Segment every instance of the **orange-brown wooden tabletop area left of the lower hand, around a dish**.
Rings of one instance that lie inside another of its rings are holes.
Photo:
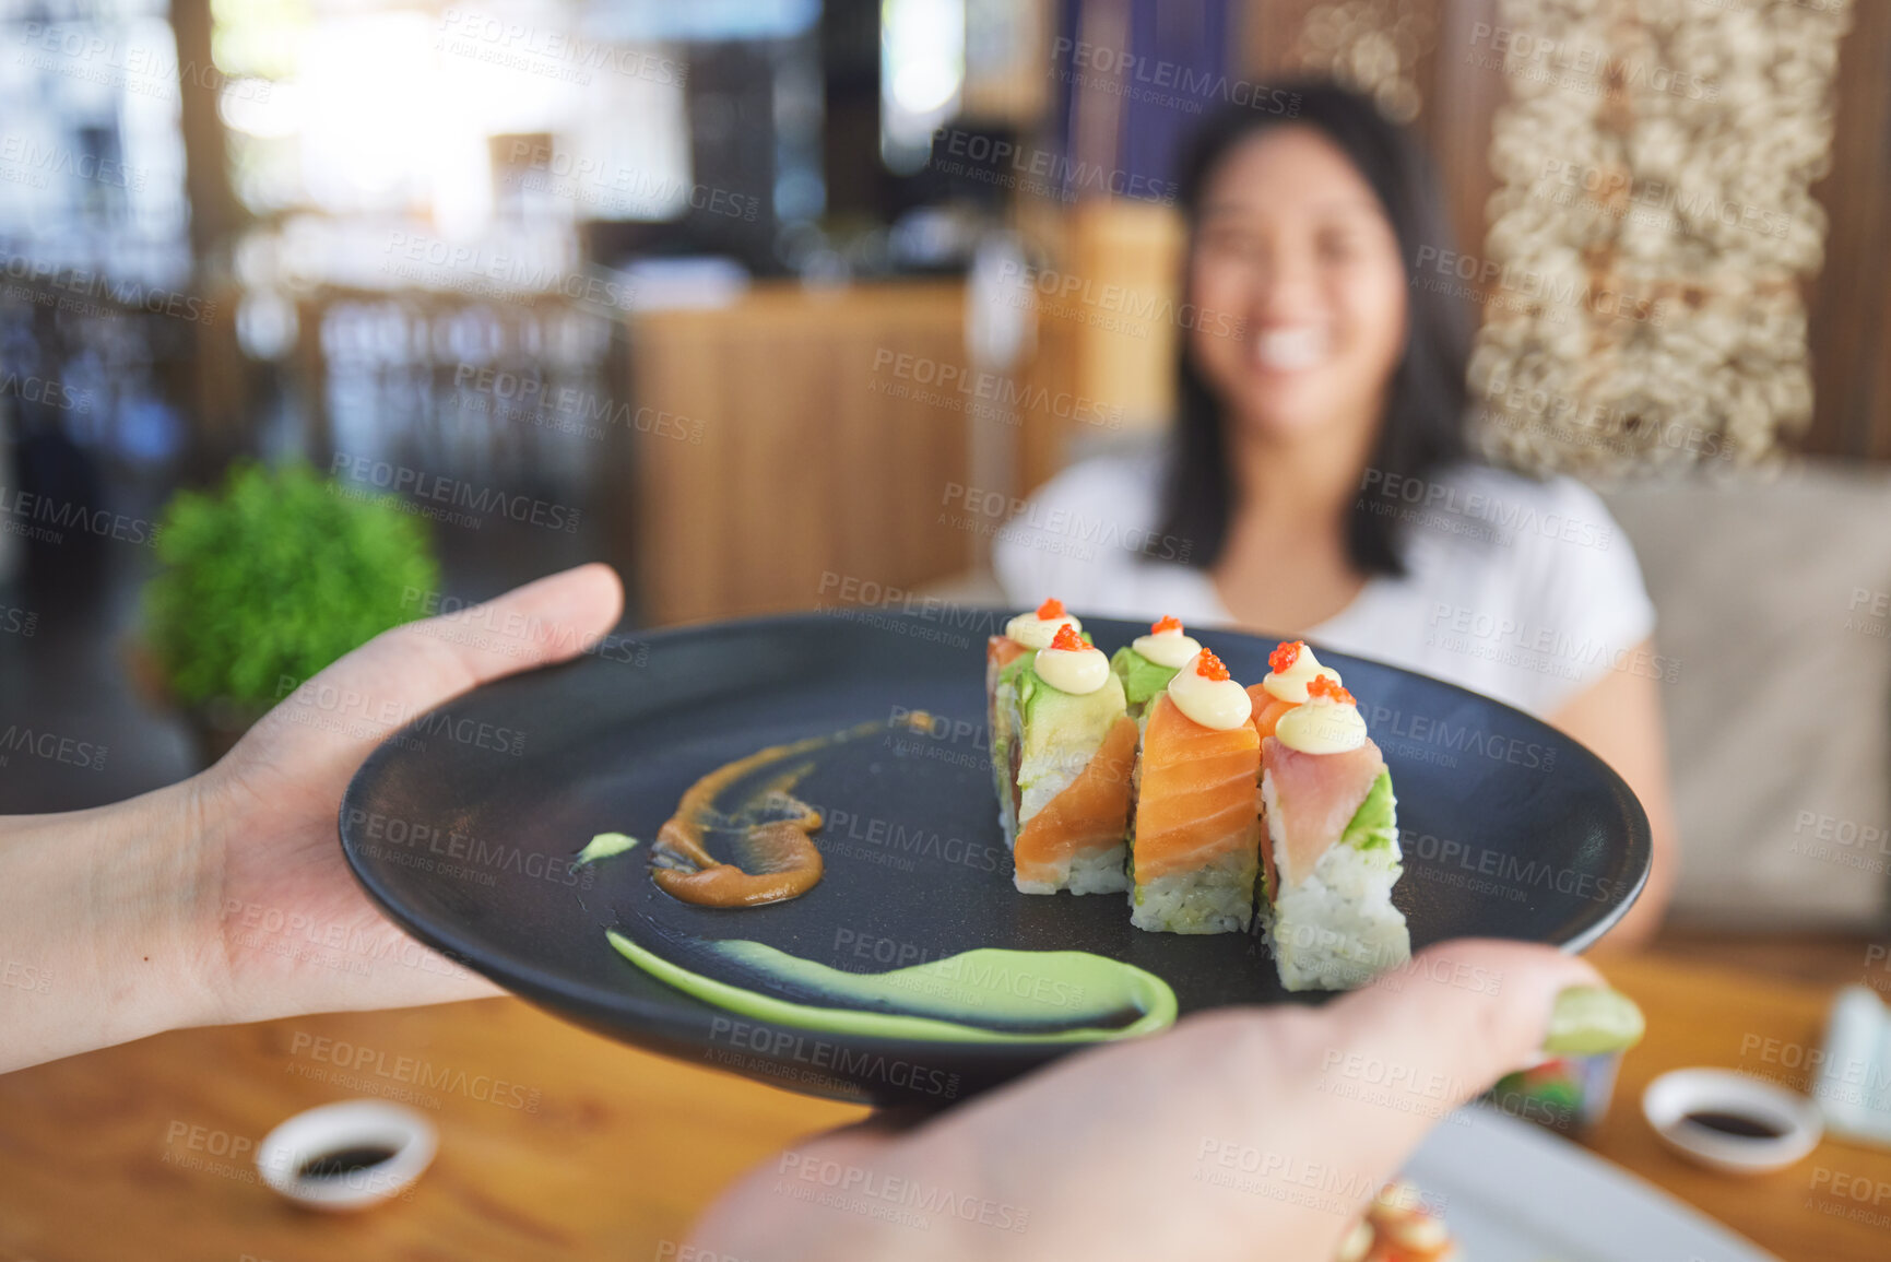
[[[363,1095],[441,1131],[412,1200],[329,1215],[257,1183],[278,1122]],[[743,1169],[857,1116],[518,999],[187,1029],[0,1075],[0,1262],[643,1262]]]

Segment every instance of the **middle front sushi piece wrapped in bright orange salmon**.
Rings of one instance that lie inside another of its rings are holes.
[[[1195,653],[1142,713],[1129,863],[1129,923],[1235,933],[1254,916],[1259,736],[1252,700],[1222,660]]]

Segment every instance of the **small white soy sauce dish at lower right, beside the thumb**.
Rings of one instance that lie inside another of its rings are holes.
[[[1670,1148],[1730,1175],[1783,1169],[1812,1152],[1825,1133],[1813,1101],[1730,1069],[1664,1073],[1641,1092],[1641,1113]],[[1744,1118],[1774,1133],[1736,1135],[1689,1114]]]

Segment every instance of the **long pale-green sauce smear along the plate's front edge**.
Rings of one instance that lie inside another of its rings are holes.
[[[777,999],[690,973],[620,933],[605,931],[626,959],[660,982],[760,1022],[874,1039],[949,1043],[1102,1043],[1167,1029],[1176,1020],[1169,982],[1135,965],[1089,952],[1010,952],[980,948],[891,973],[843,973],[777,952],[762,942],[705,946],[785,986],[832,995],[874,1010],[826,1008]],[[1135,1010],[1127,1025],[1095,1022]],[[1061,1025],[1050,1031],[993,1029],[989,1024]]]

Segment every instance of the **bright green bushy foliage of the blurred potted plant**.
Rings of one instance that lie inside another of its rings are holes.
[[[425,607],[439,564],[391,496],[306,464],[238,464],[165,505],[144,590],[142,674],[182,708],[204,762],[308,675]]]

